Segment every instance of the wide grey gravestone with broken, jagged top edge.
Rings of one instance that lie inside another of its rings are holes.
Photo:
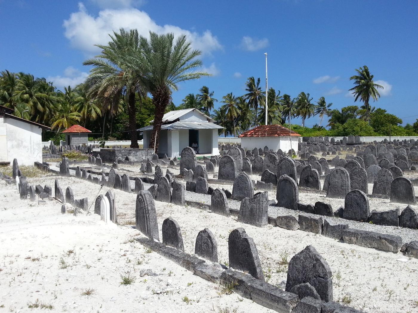
[[[268,193],[258,192],[241,201],[238,222],[263,227],[268,224]]]

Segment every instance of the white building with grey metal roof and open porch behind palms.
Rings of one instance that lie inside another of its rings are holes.
[[[219,154],[218,129],[222,128],[198,109],[170,111],[163,116],[158,154],[161,156],[167,154],[169,158],[180,156],[183,148],[196,142],[199,149],[197,154],[217,155]],[[137,131],[143,131],[144,149],[154,148],[149,146],[153,125]]]

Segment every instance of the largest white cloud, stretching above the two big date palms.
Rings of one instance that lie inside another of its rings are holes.
[[[64,20],[63,26],[65,37],[70,40],[71,46],[87,53],[97,53],[99,49],[94,44],[108,43],[109,34],[119,28],[136,28],[140,35],[147,37],[149,31],[158,34],[174,33],[175,36],[185,34],[191,40],[193,48],[202,50],[203,54],[222,49],[217,37],[210,30],[199,34],[174,25],[157,25],[147,13],[135,8],[106,9],[99,11],[98,16],[92,16],[79,3],[79,11],[71,13],[69,19]]]

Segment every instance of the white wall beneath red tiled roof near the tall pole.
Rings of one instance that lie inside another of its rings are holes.
[[[252,150],[254,148],[263,149],[265,146],[268,146],[269,149],[277,151],[281,149],[283,152],[289,151],[291,148],[291,139],[292,139],[292,149],[295,152],[298,152],[298,138],[299,137],[290,137],[290,136],[280,136],[280,137],[242,137],[241,138],[241,147],[247,150]]]

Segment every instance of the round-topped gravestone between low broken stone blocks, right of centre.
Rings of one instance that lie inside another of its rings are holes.
[[[361,190],[350,191],[344,200],[343,218],[355,221],[367,221],[370,215],[369,199]]]

